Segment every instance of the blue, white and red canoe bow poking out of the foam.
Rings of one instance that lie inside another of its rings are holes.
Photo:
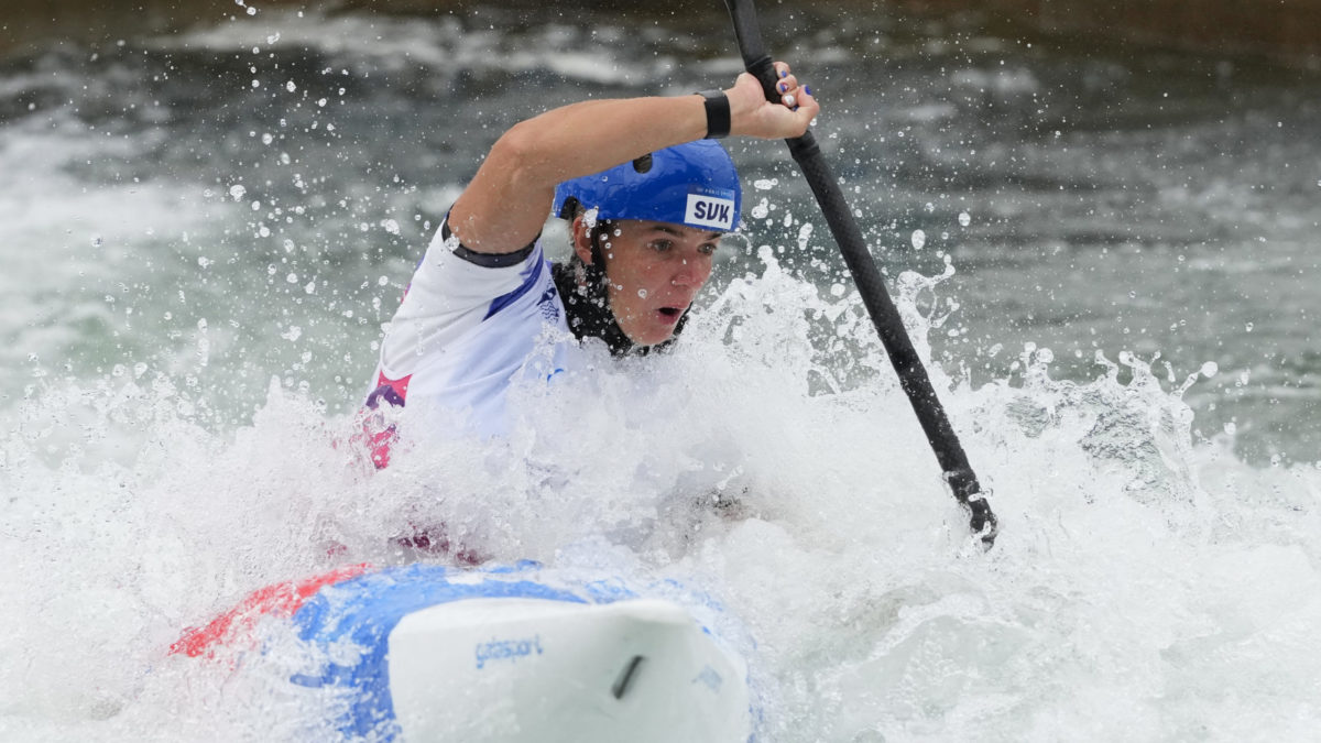
[[[346,691],[336,723],[350,738],[728,743],[752,732],[742,660],[678,603],[617,580],[536,563],[359,565],[263,588],[172,652],[213,654],[269,615],[326,650],[291,681]]]

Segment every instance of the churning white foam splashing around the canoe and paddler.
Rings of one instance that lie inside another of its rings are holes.
[[[1083,385],[1053,381],[1045,349],[1015,383],[934,369],[995,489],[983,554],[851,297],[761,259],[676,353],[602,354],[517,390],[507,440],[450,434],[379,473],[351,416],[279,383],[232,435],[181,415],[165,375],[34,393],[0,448],[0,731],[316,739],[336,699],[285,681],[292,640],[236,672],[165,649],[263,584],[416,559],[390,537],[440,522],[491,559],[709,591],[756,643],[771,740],[1313,728],[1321,475],[1194,443],[1180,390],[1136,358]],[[939,280],[900,282],[918,338]],[[860,349],[838,391],[820,321]]]

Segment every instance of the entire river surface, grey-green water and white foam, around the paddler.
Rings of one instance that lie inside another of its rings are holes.
[[[420,518],[720,596],[764,739],[1309,738],[1321,81],[834,5],[765,22],[996,549],[779,143],[729,143],[745,237],[674,354],[527,391],[507,442],[379,475],[337,446],[499,132],[728,85],[721,15],[236,5],[36,42],[0,59],[0,738],[316,738],[277,664],[164,649],[266,583],[415,559],[388,537]]]

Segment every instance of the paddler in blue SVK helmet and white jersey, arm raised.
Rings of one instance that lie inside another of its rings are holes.
[[[778,103],[744,73],[724,91],[588,100],[505,132],[427,249],[367,407],[436,406],[494,434],[510,383],[552,377],[569,333],[616,354],[670,342],[738,222],[738,175],[711,140],[799,136],[819,110],[789,65],[775,71]],[[571,222],[563,266],[543,255],[548,213]],[[384,467],[394,428],[369,438]]]

